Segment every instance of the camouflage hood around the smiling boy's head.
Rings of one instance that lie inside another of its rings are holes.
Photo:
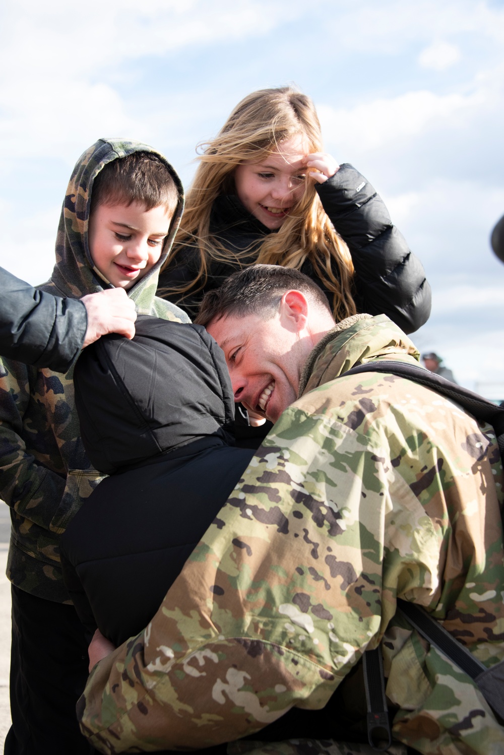
[[[78,159],[69,180],[61,211],[56,240],[56,266],[51,280],[63,296],[73,298],[93,294],[95,291],[102,291],[103,288],[112,288],[95,272],[89,251],[88,221],[91,192],[94,179],[107,163],[135,152],[152,153],[161,159],[170,171],[179,194],[179,202],[161,257],[149,273],[128,291],[128,296],[137,304],[137,310],[141,313],[149,313],[158,285],[159,269],[168,256],[180,225],[184,194],[180,178],[170,163],[156,149],[141,142],[99,139]]]

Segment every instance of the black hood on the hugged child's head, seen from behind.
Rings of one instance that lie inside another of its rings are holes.
[[[82,440],[100,472],[205,436],[231,441],[226,360],[201,325],[140,316],[132,341],[114,334],[82,351],[74,383]]]

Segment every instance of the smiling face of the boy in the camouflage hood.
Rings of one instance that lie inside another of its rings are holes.
[[[161,257],[172,214],[164,205],[146,210],[140,202],[98,205],[89,218],[89,251],[115,288],[131,288]]]

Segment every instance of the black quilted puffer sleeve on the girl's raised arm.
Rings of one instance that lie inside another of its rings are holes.
[[[352,254],[358,310],[385,314],[405,333],[416,331],[429,319],[431,288],[383,199],[349,164],[319,184],[317,192]]]

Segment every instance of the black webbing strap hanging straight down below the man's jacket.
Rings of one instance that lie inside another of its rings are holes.
[[[381,648],[367,650],[362,664],[367,702],[367,739],[375,750],[386,750],[392,744],[392,732],[385,696]]]

